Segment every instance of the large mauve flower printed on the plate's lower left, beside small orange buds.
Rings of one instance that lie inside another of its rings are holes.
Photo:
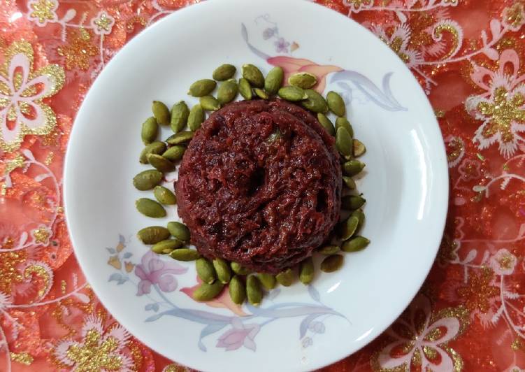
[[[177,289],[177,279],[174,275],[180,275],[188,271],[186,267],[176,262],[164,262],[153,252],[143,255],[141,264],[135,266],[135,275],[141,278],[138,283],[137,296],[150,293],[152,285],[159,285],[162,292],[173,292]]]

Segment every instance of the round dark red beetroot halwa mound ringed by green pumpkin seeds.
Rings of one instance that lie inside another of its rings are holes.
[[[282,100],[230,103],[210,115],[175,184],[192,243],[257,272],[309,257],[339,219],[333,143],[315,117]]]

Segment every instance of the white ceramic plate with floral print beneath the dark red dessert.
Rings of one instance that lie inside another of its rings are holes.
[[[225,298],[192,301],[194,264],[155,257],[135,237],[138,229],[177,219],[175,208],[161,221],[134,208],[135,199],[150,196],[131,185],[146,168],[136,158],[150,102],[196,103],[186,94],[189,85],[222,63],[253,63],[264,73],[281,64],[322,76],[325,93],[345,96],[356,136],[368,148],[358,187],[368,200],[362,234],[371,245],[309,287],[273,290],[258,309],[235,308]],[[426,96],[373,34],[307,1],[212,0],[145,30],[96,79],[71,133],[64,200],[87,279],[143,343],[195,369],[296,371],[359,350],[408,305],[436,256],[447,179]]]

